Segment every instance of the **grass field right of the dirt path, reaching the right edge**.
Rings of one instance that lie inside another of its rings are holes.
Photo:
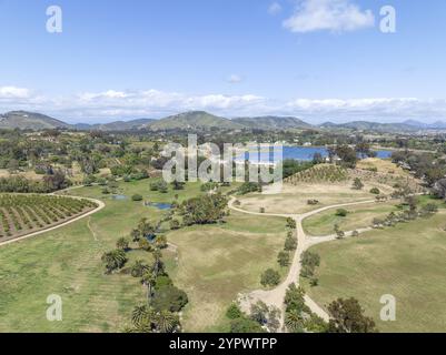
[[[320,254],[319,286],[304,285],[326,306],[358,298],[381,332],[444,332],[446,212],[311,248]],[[397,300],[397,321],[379,321],[381,295]]]

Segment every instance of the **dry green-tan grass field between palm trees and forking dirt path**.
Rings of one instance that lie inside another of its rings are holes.
[[[225,224],[168,235],[179,246],[179,266],[171,274],[189,296],[186,331],[228,331],[225,312],[238,293],[261,288],[261,273],[279,268],[277,254],[284,247],[285,225],[285,219],[232,213]],[[283,275],[286,272],[281,270]]]

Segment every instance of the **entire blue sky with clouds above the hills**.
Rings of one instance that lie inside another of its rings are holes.
[[[0,112],[446,120],[445,33],[444,0],[0,0]]]

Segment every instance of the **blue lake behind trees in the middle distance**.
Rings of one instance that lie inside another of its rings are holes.
[[[323,158],[328,156],[328,151],[326,148],[323,146],[284,146],[283,154],[284,160],[293,159],[298,161],[311,161],[314,155],[319,153]],[[392,151],[376,151],[377,158],[379,159],[389,159],[392,156]],[[248,160],[249,154],[245,154],[245,160]],[[251,154],[250,161],[257,161],[257,154]],[[238,156],[237,160],[244,160],[242,155]],[[271,152],[261,152],[259,154],[259,161],[261,162],[269,162],[274,160],[274,154]]]

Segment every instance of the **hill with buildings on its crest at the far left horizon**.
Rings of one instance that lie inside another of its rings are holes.
[[[11,111],[0,115],[0,129],[6,130],[51,130],[51,129],[68,129],[69,124],[50,118],[44,114],[27,112],[27,111]]]

